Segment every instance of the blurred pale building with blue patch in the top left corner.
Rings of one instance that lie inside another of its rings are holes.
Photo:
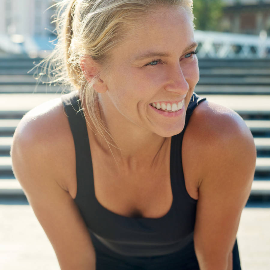
[[[53,4],[53,0],[0,0],[0,52],[31,55],[50,49],[54,11],[48,7]]]

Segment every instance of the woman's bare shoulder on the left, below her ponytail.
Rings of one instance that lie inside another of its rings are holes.
[[[67,169],[63,168],[70,168],[74,155],[73,138],[61,98],[35,107],[19,122],[13,136],[11,157],[14,173],[20,182],[28,181],[20,177],[24,168],[31,171],[36,168],[51,173],[53,177],[48,175],[47,179],[57,179],[58,184],[67,190],[63,175]]]

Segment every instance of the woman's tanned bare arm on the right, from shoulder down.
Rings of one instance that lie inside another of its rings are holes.
[[[241,211],[250,194],[256,149],[249,129],[237,114],[209,107],[214,112],[201,108],[199,125],[204,126],[197,137],[199,198],[194,244],[201,269],[226,269],[219,268],[218,261],[227,262],[232,251]]]

